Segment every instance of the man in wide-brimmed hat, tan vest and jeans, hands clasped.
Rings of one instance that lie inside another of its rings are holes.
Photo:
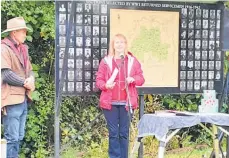
[[[20,141],[24,137],[27,104],[34,91],[34,75],[29,60],[28,46],[24,44],[29,28],[22,17],[7,21],[9,33],[1,40],[1,108],[4,138],[7,140],[7,158],[18,158]]]

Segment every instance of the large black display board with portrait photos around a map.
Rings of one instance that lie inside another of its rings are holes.
[[[56,83],[63,69],[71,2],[56,2]],[[178,2],[78,1],[63,94],[89,95],[116,33],[141,62],[140,93],[201,93],[223,86],[223,5]]]

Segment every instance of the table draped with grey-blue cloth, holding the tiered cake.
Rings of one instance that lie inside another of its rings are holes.
[[[203,125],[203,123],[212,124],[212,130]],[[161,114],[144,114],[138,123],[138,138],[145,136],[155,136],[159,141],[158,158],[164,157],[166,143],[182,128],[200,125],[209,132],[214,139],[214,150],[216,158],[219,155],[219,141],[217,137],[217,128],[225,134],[229,132],[223,126],[229,126],[229,114],[224,113],[161,113]],[[168,135],[170,130],[174,130]],[[136,139],[139,140],[139,139]],[[141,139],[140,139],[141,140]],[[140,142],[134,143],[134,151],[139,147]]]

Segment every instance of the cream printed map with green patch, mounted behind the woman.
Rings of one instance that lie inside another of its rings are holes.
[[[122,33],[142,64],[144,87],[178,86],[179,12],[110,10],[110,38]]]

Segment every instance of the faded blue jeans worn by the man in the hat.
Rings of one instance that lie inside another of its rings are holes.
[[[7,158],[18,158],[20,141],[25,135],[27,101],[6,106],[3,116],[4,137],[7,140]]]

